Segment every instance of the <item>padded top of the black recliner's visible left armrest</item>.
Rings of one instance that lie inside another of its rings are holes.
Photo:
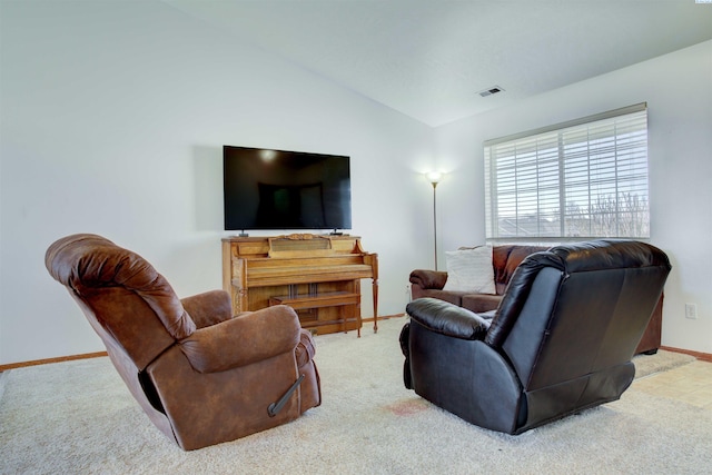
[[[406,306],[412,319],[445,336],[461,339],[484,339],[490,320],[474,311],[439,300],[418,298]]]

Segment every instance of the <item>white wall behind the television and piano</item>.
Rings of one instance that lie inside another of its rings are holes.
[[[431,128],[161,2],[1,14],[0,364],[102,349],[44,269],[61,236],[105,235],[180,296],[219,288],[225,144],[349,155],[352,234],[379,254],[379,313],[404,311],[432,266]]]

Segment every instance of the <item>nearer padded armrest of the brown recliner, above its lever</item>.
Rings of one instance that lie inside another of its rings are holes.
[[[197,329],[179,345],[194,369],[217,373],[294,352],[300,328],[297,314],[277,305]]]

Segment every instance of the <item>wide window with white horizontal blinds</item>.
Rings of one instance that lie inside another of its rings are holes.
[[[645,103],[484,144],[491,241],[650,237]]]

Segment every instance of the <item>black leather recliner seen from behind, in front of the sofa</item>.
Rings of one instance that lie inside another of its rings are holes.
[[[405,386],[508,434],[619,399],[670,269],[647,244],[596,240],[527,257],[494,315],[416,299],[400,334]]]

